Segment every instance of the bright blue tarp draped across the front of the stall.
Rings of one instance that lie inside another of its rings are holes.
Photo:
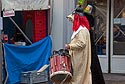
[[[43,65],[49,64],[51,49],[50,36],[29,46],[4,44],[7,84],[19,84],[21,72],[38,70]]]

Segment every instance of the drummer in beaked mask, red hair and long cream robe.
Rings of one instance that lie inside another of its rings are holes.
[[[73,23],[71,42],[65,44],[65,48],[69,49],[73,68],[71,84],[92,84],[90,26],[83,10],[79,8],[67,16]]]

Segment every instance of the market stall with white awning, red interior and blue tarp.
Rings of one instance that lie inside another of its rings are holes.
[[[7,72],[3,82],[18,84],[21,72],[39,70],[49,63],[52,48],[48,34],[50,1],[1,0],[1,3],[1,36],[6,37],[1,39]]]

